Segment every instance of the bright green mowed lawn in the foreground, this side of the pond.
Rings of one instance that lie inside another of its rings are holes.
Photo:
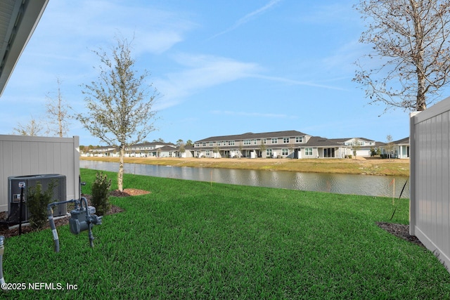
[[[82,169],[90,192],[96,171]],[[113,178],[115,173],[106,172]],[[125,174],[125,211],[87,233],[58,228],[8,238],[6,282],[75,290],[1,293],[6,299],[449,299],[432,252],[375,225],[392,199]],[[393,223],[408,223],[396,200]]]

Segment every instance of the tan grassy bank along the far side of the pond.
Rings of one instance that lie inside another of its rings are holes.
[[[80,157],[80,160],[119,162],[118,157]],[[336,174],[409,176],[409,159],[229,159],[229,158],[124,158],[126,163],[174,167],[252,169]]]

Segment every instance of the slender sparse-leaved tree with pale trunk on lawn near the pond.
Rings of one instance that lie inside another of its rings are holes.
[[[146,83],[148,72],[138,74],[134,70],[130,48],[127,39],[117,38],[110,56],[101,48],[94,51],[101,61],[100,74],[97,81],[82,85],[87,113],[77,115],[92,136],[119,147],[117,185],[120,191],[123,191],[125,148],[143,141],[155,130],[153,104],[158,96],[156,89],[150,95],[152,84]]]

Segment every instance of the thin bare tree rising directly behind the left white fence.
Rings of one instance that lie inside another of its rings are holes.
[[[56,98],[52,98],[47,94],[46,110],[48,115],[48,131],[47,133],[55,133],[56,136],[62,138],[68,135],[69,131],[69,119],[68,109],[70,105],[63,100],[63,94],[61,93],[61,81],[59,78],[56,79],[58,82],[58,91]]]

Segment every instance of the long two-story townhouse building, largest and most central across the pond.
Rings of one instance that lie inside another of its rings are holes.
[[[212,136],[194,143],[195,157],[345,157],[346,145],[300,131]]]

